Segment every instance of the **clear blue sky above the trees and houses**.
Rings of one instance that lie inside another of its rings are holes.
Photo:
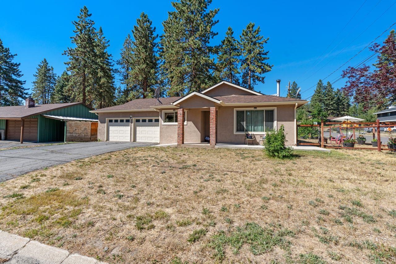
[[[67,57],[62,53],[71,45],[74,29],[71,22],[84,4],[96,27],[101,26],[110,40],[109,52],[114,60],[119,58],[124,39],[142,11],[153,21],[156,32],[162,34],[161,23],[173,10],[168,0],[56,2],[2,2],[0,38],[11,52],[18,54],[15,61],[21,63],[25,88],[32,87],[33,74],[44,58],[58,75],[64,71]],[[216,16],[219,23],[213,28],[219,34],[212,40],[213,45],[221,42],[228,26],[239,38],[249,22],[259,25],[263,36],[270,38],[265,48],[269,50],[268,63],[274,67],[265,75],[265,83],[258,84],[255,90],[275,94],[275,80],[281,79],[281,95],[285,96],[287,83],[295,80],[302,91],[309,89],[303,92],[303,98],[312,95],[314,87],[310,87],[318,79],[335,71],[396,22],[394,0],[213,0],[211,8],[220,8]],[[392,28],[396,29],[396,25]],[[383,42],[387,33],[377,42]],[[337,80],[342,69],[371,54],[366,48],[324,81]],[[345,80],[339,80],[333,87],[344,84]]]

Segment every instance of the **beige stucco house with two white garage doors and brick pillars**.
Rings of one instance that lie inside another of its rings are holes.
[[[307,101],[264,95],[222,81],[183,97],[135,99],[93,110],[103,141],[241,144],[246,133],[256,140],[284,125],[287,145],[296,143],[296,109]]]

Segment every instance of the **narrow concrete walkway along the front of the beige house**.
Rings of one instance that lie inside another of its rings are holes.
[[[208,143],[186,143],[185,145],[191,145],[191,147],[205,147]],[[177,143],[171,144],[161,144],[155,145],[154,147],[177,147]],[[330,149],[324,149],[316,146],[291,146],[295,150],[303,150],[303,151],[322,151],[322,152],[331,152]],[[215,149],[264,149],[263,145],[246,145],[246,144],[226,144],[226,143],[217,143],[215,145]]]

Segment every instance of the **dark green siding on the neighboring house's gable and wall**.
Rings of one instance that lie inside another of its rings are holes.
[[[85,105],[72,105],[61,109],[48,111],[42,115],[56,115],[61,117],[80,117],[98,119],[95,113],[89,113],[91,109]],[[38,116],[38,142],[54,142],[65,140],[65,122]],[[37,116],[36,116],[37,118]],[[1,124],[1,123],[0,123]]]

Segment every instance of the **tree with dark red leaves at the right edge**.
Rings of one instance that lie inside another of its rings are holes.
[[[370,50],[379,54],[373,68],[363,64],[357,68],[348,67],[342,74],[343,78],[347,78],[343,91],[356,103],[364,105],[365,110],[396,102],[395,31],[390,31],[383,45],[375,43]]]

